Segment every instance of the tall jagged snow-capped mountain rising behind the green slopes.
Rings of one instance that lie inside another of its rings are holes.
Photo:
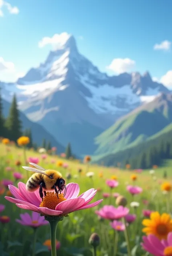
[[[43,64],[12,83],[0,83],[2,97],[17,94],[20,110],[41,123],[59,142],[71,142],[75,153],[93,153],[94,138],[114,121],[159,92],[148,72],[108,76],[77,49],[73,36],[51,51]]]

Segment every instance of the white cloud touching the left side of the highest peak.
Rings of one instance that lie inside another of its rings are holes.
[[[43,37],[40,42],[38,42],[38,46],[40,48],[46,45],[52,45],[54,48],[63,46],[66,41],[69,39],[70,34],[64,32],[61,34],[54,34],[52,37]]]

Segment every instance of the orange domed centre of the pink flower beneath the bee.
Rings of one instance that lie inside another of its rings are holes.
[[[54,192],[47,192],[44,196],[43,201],[40,203],[40,207],[47,207],[52,210],[56,210],[57,204],[65,201],[66,198],[63,197],[63,194],[57,194]]]

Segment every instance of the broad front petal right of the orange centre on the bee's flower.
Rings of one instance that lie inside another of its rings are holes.
[[[66,201],[61,202],[56,206],[56,210],[62,211],[63,214],[73,212],[75,209],[83,206],[85,200],[83,198],[70,198]]]

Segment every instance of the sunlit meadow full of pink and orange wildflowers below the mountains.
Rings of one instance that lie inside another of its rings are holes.
[[[27,143],[0,143],[1,256],[172,256],[170,173],[93,166]],[[60,171],[65,197],[28,192],[30,162]]]

